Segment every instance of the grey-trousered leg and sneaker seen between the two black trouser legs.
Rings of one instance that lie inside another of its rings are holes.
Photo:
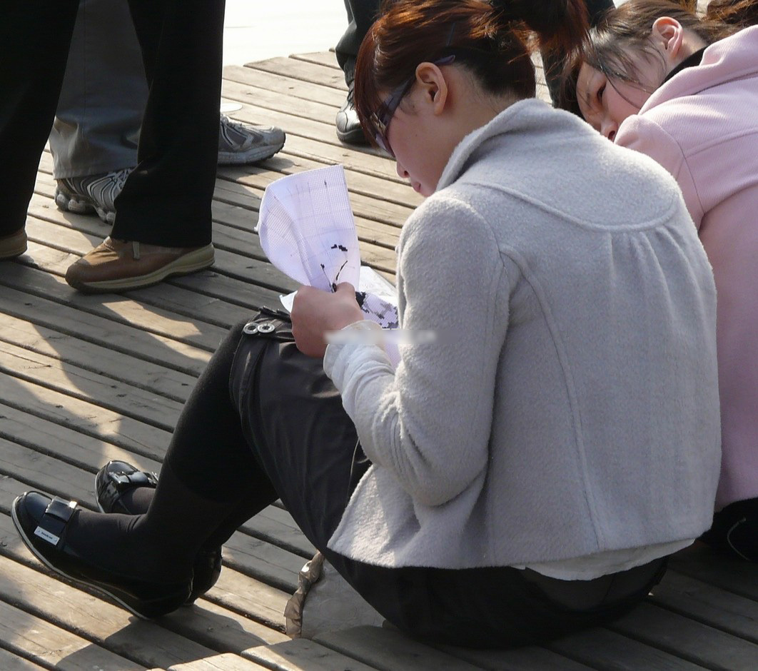
[[[50,133],[59,208],[113,223],[114,199],[137,162],[147,94],[127,2],[80,0]]]

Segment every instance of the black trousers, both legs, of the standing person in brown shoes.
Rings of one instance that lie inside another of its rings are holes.
[[[127,0],[124,0],[127,2]],[[163,246],[211,242],[224,0],[129,0],[150,86],[138,165],[112,235]],[[23,228],[61,92],[78,0],[0,7],[0,237]]]

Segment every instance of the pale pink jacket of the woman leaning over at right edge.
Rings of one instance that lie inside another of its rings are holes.
[[[626,119],[619,145],[678,181],[713,265],[722,412],[716,510],[758,497],[758,26],[710,45]]]

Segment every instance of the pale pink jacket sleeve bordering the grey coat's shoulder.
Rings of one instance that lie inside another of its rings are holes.
[[[690,216],[699,229],[704,214],[703,204],[687,157],[675,138],[655,121],[635,114],[621,124],[615,143],[647,154],[672,174],[684,196]]]

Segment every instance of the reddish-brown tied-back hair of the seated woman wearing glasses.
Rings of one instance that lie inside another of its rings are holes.
[[[387,92],[410,84],[419,63],[449,55],[486,92],[534,97],[530,31],[548,48],[571,48],[584,35],[586,14],[581,0],[385,0],[356,63],[356,111],[366,135],[375,136],[371,114]]]

